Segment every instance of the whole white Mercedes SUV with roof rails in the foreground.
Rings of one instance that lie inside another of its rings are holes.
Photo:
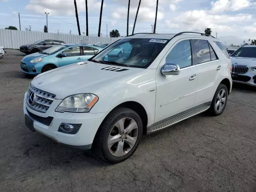
[[[109,54],[122,47],[122,57]],[[44,72],[24,96],[25,123],[111,163],[150,134],[208,110],[220,115],[231,60],[216,38],[193,32],[134,34],[88,61]]]

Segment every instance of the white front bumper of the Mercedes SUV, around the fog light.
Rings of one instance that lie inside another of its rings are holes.
[[[62,100],[55,99],[50,108],[46,113],[41,113],[30,109],[26,104],[26,94],[24,96],[23,111],[24,114],[29,116],[32,113],[40,117],[53,117],[49,126],[42,124],[41,122],[34,120],[34,129],[50,138],[56,142],[66,144],[68,146],[73,146],[76,148],[90,149],[92,142],[96,135],[96,132],[101,124],[101,122],[106,117],[107,113],[70,113],[70,112],[55,112],[54,110],[60,104]],[[69,124],[82,124],[80,129],[76,134],[66,134],[58,132],[58,128],[62,123]]]

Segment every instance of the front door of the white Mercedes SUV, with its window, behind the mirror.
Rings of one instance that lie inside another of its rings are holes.
[[[194,107],[198,70],[194,64],[190,39],[177,41],[167,52],[156,72],[155,123]],[[165,63],[180,66],[180,74],[163,76]]]

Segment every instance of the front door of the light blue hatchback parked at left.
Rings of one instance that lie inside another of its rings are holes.
[[[80,46],[67,48],[62,53],[66,54],[66,57],[59,58],[60,67],[82,61],[82,51]]]

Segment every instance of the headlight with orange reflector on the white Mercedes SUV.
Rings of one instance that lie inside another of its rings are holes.
[[[77,94],[65,98],[56,108],[56,112],[89,112],[98,101],[94,94]]]

